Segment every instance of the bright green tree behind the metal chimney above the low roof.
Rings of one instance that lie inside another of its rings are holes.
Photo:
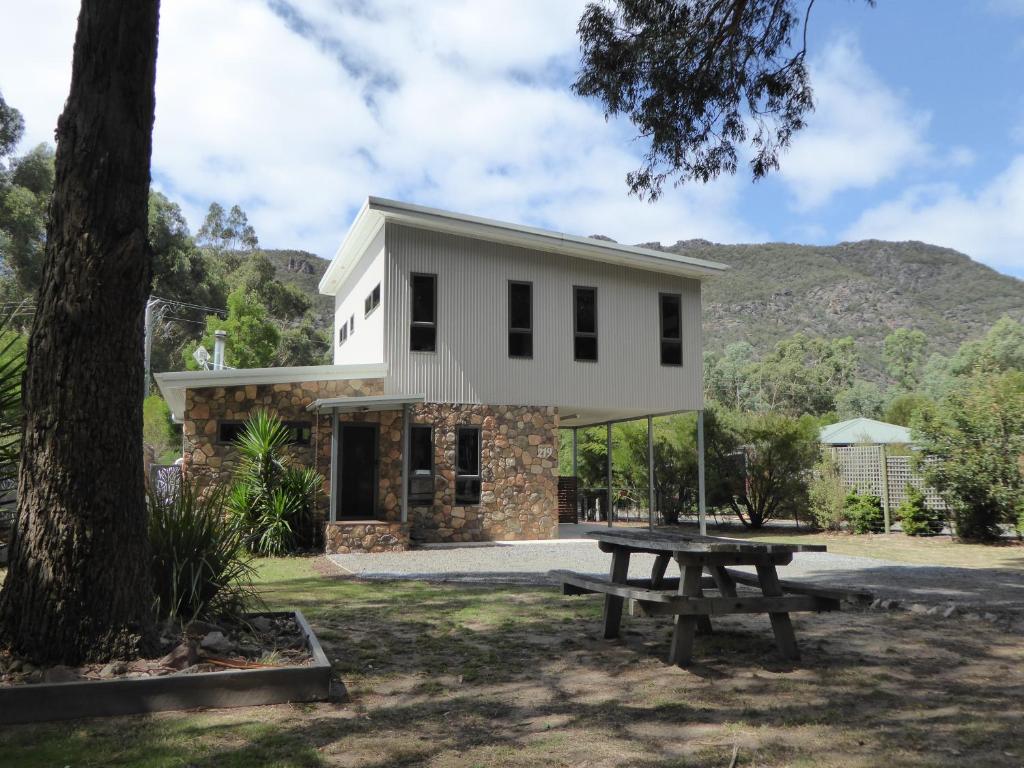
[[[227,332],[224,361],[228,367],[266,368],[273,365],[281,334],[267,318],[266,307],[255,296],[234,291],[227,297],[226,317],[207,315],[203,337],[198,343],[185,347],[186,368],[193,371],[199,368],[193,357],[199,344],[212,352],[216,331]]]

